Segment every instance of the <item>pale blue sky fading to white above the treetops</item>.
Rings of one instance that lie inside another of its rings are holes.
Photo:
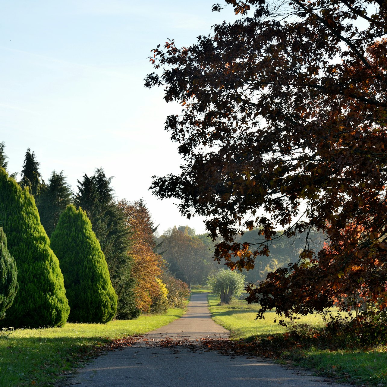
[[[179,172],[164,121],[181,107],[165,103],[162,88],[145,89],[144,77],[158,43],[187,46],[235,20],[230,6],[211,12],[213,3],[0,0],[0,142],[10,173],[20,173],[27,148],[46,182],[63,170],[75,192],[102,167],[117,199],[145,200],[159,233],[204,233],[202,217],[188,220],[148,190],[153,175]]]

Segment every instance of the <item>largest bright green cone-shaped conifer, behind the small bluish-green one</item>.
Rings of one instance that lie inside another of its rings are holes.
[[[66,323],[70,308],[58,258],[40,223],[34,198],[0,168],[0,225],[17,264],[19,291],[2,327],[54,327]]]

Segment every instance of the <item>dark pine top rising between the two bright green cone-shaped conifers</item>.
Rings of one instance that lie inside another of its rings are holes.
[[[53,171],[47,187],[41,190],[39,200],[36,203],[40,221],[48,236],[53,233],[60,214],[71,202],[72,190],[66,182],[66,177],[63,175],[63,171],[60,173]]]

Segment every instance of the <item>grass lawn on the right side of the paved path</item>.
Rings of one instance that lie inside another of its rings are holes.
[[[259,305],[248,305],[246,301],[232,301],[230,305],[218,305],[219,298],[208,296],[212,318],[231,331],[233,339],[255,340],[270,346],[281,342],[286,328],[274,324],[274,312],[265,314],[265,320],[255,320]],[[310,315],[299,320],[314,327],[323,326],[320,315]],[[387,329],[387,327],[386,327]],[[270,351],[268,352],[270,353]],[[295,345],[284,348],[279,356],[282,362],[313,368],[318,374],[333,377],[338,382],[356,385],[387,386],[387,346],[368,349],[346,348],[331,350],[319,345]]]

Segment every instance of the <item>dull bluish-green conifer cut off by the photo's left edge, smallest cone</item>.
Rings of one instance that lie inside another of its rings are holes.
[[[14,257],[7,247],[7,237],[0,227],[0,320],[5,317],[5,311],[14,302],[19,289],[17,269]]]

